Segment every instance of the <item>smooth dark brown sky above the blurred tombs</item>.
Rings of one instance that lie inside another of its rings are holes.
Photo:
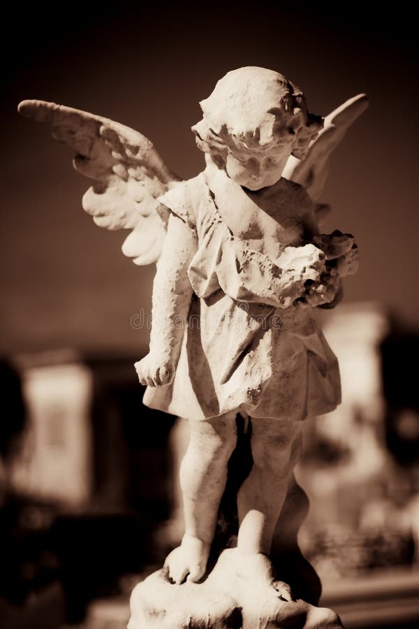
[[[16,19],[1,105],[3,349],[63,342],[140,347],[146,335],[129,321],[149,304],[153,273],[119,254],[122,234],[96,229],[80,210],[88,182],[45,127],[16,115],[17,102],[65,103],[132,126],[189,178],[203,168],[190,131],[200,117],[198,101],[226,71],[244,65],[284,73],[318,114],[367,92],[369,110],[332,161],[323,197],[333,213],[325,231],[337,227],[358,239],[361,267],[346,282],[346,299],[379,301],[416,323],[417,101],[409,18],[369,17],[356,3],[339,17],[327,8],[291,12],[284,4],[254,10],[161,4],[87,15],[79,5],[63,17],[50,15],[52,22],[40,8]]]

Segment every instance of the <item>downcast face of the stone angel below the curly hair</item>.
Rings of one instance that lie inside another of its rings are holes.
[[[272,186],[281,179],[282,171],[291,146],[284,147],[277,154],[268,156],[249,152],[248,154],[234,154],[229,152],[226,159],[226,172],[230,179],[249,190],[260,190]]]

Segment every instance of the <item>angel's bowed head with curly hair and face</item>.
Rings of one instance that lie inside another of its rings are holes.
[[[323,124],[298,87],[253,66],[228,72],[200,107],[203,119],[192,127],[198,147],[251,190],[276,183],[291,154],[304,158]]]

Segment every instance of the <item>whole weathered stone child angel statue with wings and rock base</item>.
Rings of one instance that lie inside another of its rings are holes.
[[[130,627],[235,627],[224,612],[224,624],[216,623],[210,598],[191,611],[208,584],[219,592],[217,605],[226,593],[235,601],[237,626],[283,626],[284,606],[297,601],[275,576],[272,540],[281,536],[278,523],[285,535],[284,513],[292,517],[304,420],[340,401],[337,359],[313,308],[332,308],[358,264],[353,236],[321,233],[329,208],[318,200],[330,153],[367,99],[355,96],[323,118],[281,74],[244,67],[221,78],[200,106],[192,131],[205,170],[188,181],[122,124],[44,101],[23,101],[19,110],[50,122],[54,138],[75,150],[75,169],[94,180],[83,197],[94,222],[130,229],[124,254],[138,265],[156,262],[149,353],[135,369],[147,384],[145,405],[189,423],[180,470],[185,533],[161,572],[169,588],[163,611],[142,594],[153,613],[142,609],[138,621],[133,612]],[[250,427],[253,465],[237,491],[237,547],[209,571],[238,415]],[[207,624],[196,621],[203,612]],[[305,625],[286,626],[308,627],[304,614]],[[316,616],[312,626],[340,626],[333,618],[321,624]]]

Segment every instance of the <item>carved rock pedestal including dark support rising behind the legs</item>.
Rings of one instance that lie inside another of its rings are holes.
[[[264,556],[244,558],[237,548],[222,550],[230,546],[237,535],[237,491],[252,465],[249,433],[244,430],[240,417],[237,422],[237,447],[228,464],[228,479],[212,549],[218,561],[214,567],[208,566],[209,574],[199,584],[188,581],[182,585],[172,584],[163,569],[135,586],[128,629],[341,628],[335,612],[315,606],[321,595],[320,579],[297,544],[297,533],[307,515],[309,500],[294,475],[274,533],[270,561],[277,577],[291,586],[297,600],[282,600],[279,593],[274,593],[267,585],[269,575],[260,570]],[[182,453],[177,454],[180,460]]]

